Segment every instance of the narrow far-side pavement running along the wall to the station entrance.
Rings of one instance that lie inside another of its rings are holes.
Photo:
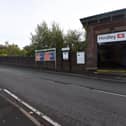
[[[26,67],[18,67],[18,66],[9,66],[9,65],[0,65],[6,68],[17,68],[24,70],[33,70],[37,72],[44,72],[49,74],[63,75],[63,76],[71,76],[71,77],[80,77],[80,78],[91,78],[98,79],[103,81],[112,81],[112,82],[120,82],[126,83],[126,70],[123,69],[98,69],[94,71],[84,71],[82,74],[80,73],[72,73],[72,72],[60,72],[53,70],[45,70],[45,69],[33,69]]]

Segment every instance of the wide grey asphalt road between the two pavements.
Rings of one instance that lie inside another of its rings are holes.
[[[6,88],[62,126],[126,126],[126,84],[0,66]]]

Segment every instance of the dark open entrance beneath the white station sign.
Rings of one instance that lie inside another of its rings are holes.
[[[126,41],[97,44],[98,68],[126,68]]]

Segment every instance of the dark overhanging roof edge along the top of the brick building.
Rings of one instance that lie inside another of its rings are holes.
[[[80,19],[83,25],[126,18],[126,8]]]

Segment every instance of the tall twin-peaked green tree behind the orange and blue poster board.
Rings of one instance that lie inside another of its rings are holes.
[[[35,34],[31,34],[32,46],[36,49],[57,48],[63,46],[63,31],[56,23],[49,28],[45,22],[37,25]]]

